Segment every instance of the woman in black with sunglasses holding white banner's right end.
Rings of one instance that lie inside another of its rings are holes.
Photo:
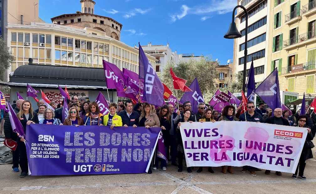
[[[311,133],[311,128],[306,125],[306,121],[307,121],[307,116],[305,114],[302,114],[300,116],[298,116],[297,120],[298,120],[298,127],[303,127],[303,128],[307,128],[307,136],[306,136],[306,140],[304,143],[304,147],[302,149],[302,153],[300,156],[300,160],[297,164],[296,167],[296,171],[295,174],[292,175],[293,179],[296,179],[297,177],[297,173],[298,173],[298,177],[301,179],[306,180],[307,178],[304,176],[304,169],[306,166],[306,161],[310,158],[313,158],[313,152],[311,147],[308,145],[308,141],[312,141],[313,140],[313,134]]]

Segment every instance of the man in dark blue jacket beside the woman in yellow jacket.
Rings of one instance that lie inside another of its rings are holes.
[[[123,127],[138,127],[139,117],[138,112],[133,111],[133,103],[130,100],[125,101],[125,110],[119,112],[122,118]]]

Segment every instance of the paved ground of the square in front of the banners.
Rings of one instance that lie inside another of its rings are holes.
[[[316,138],[313,141],[316,144]],[[316,156],[316,147],[313,154]],[[177,167],[167,164],[167,170],[153,170],[152,174],[112,174],[74,176],[26,176],[12,171],[12,164],[0,165],[0,194],[2,193],[171,193],[171,194],[239,194],[239,193],[316,193],[316,157],[307,160],[304,176],[307,180],[292,179],[291,173],[277,176],[257,171],[241,173],[233,167],[234,174],[223,174],[221,167],[213,167],[214,174],[203,168],[197,173],[177,172]],[[49,169],[47,169],[49,170]]]

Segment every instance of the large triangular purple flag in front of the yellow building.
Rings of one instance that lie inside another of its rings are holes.
[[[254,93],[260,96],[260,98],[272,109],[272,115],[274,109],[281,108],[279,78],[277,73],[276,68],[254,91]]]

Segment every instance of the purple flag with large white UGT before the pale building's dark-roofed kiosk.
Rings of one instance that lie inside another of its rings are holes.
[[[127,86],[126,79],[122,71],[114,64],[103,60],[103,69],[105,74],[106,87],[116,89],[118,92],[125,92]]]

